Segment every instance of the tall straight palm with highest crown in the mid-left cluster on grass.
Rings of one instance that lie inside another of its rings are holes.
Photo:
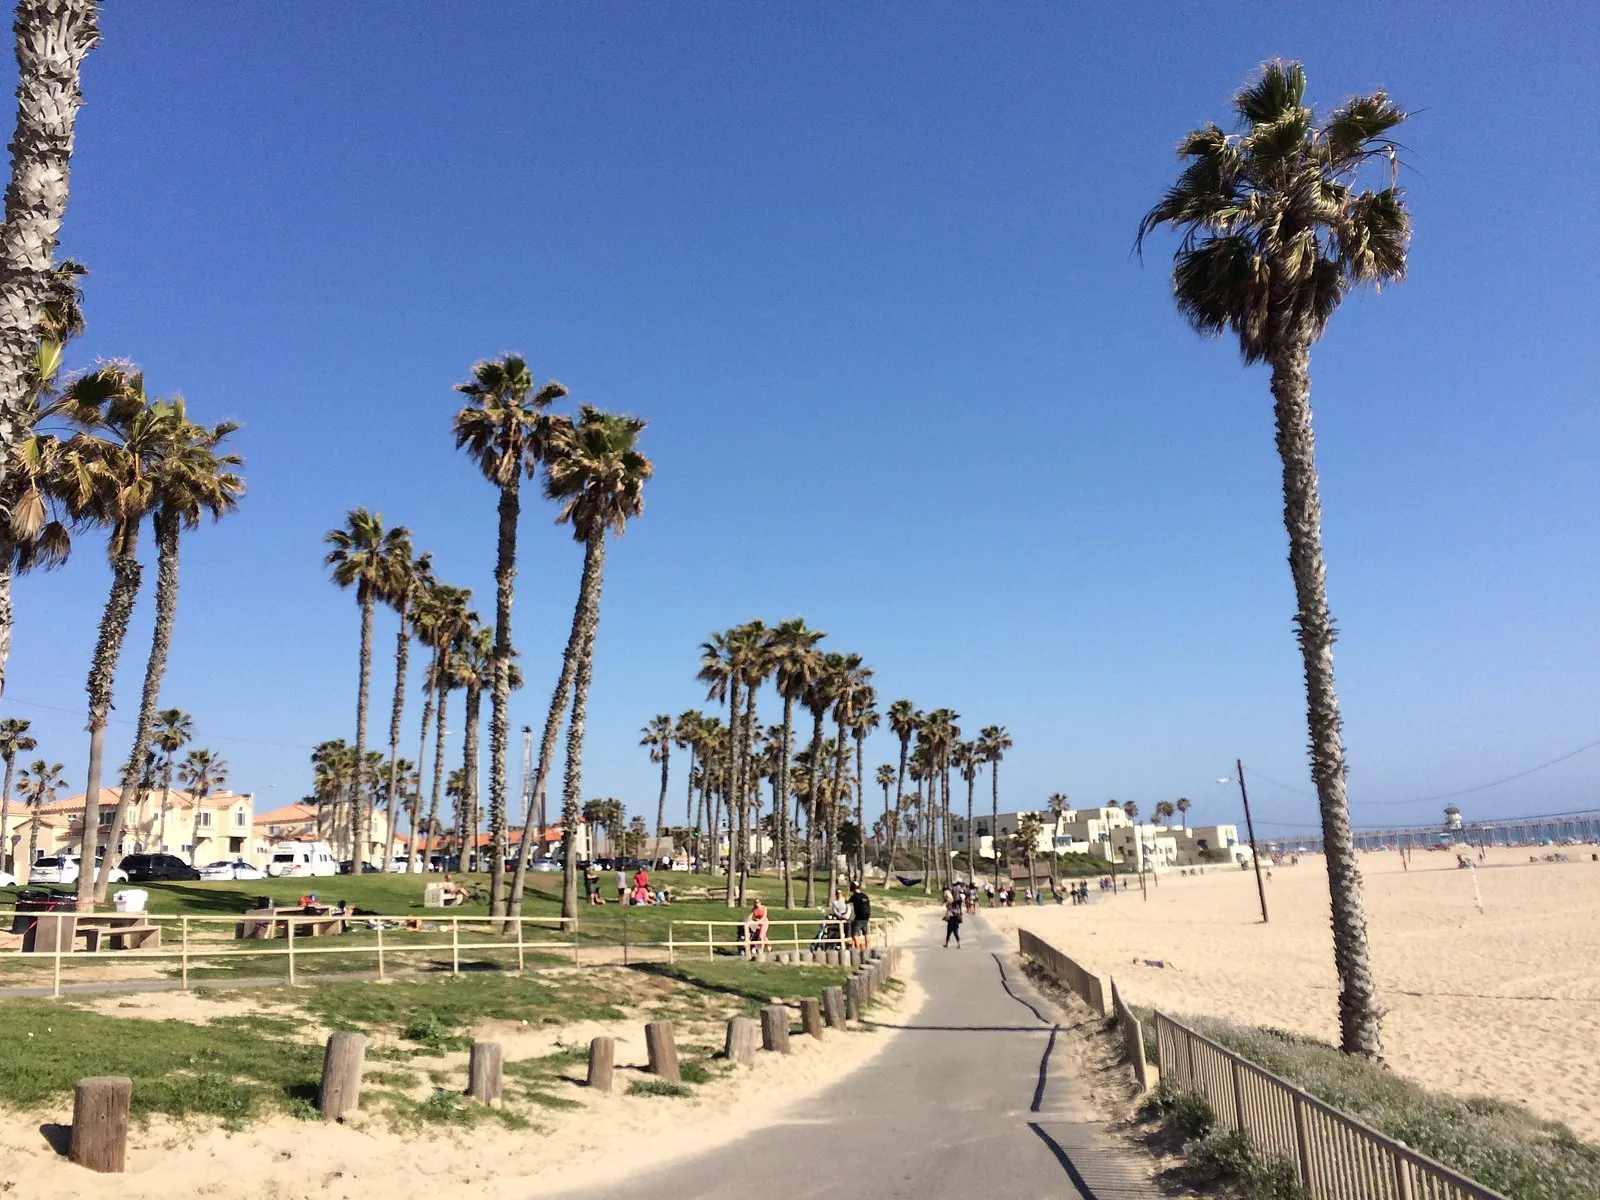
[[[506,355],[474,363],[472,379],[456,384],[467,405],[456,413],[456,450],[466,450],[483,478],[499,488],[499,538],[494,550],[494,686],[490,693],[490,822],[504,826],[506,744],[510,736],[510,605],[517,581],[517,518],[522,477],[533,477],[557,422],[542,410],[566,395],[558,382],[534,390],[526,360]],[[494,816],[499,813],[499,818]],[[504,859],[496,853],[490,878],[490,915],[504,912]]]

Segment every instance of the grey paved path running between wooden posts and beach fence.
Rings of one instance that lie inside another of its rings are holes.
[[[851,1189],[870,1200],[1160,1195],[1142,1162],[1088,1117],[1058,1053],[1053,1010],[1011,944],[981,917],[963,931],[962,950],[941,949],[931,925],[914,933],[907,949],[926,1000],[890,1026],[878,1058],[768,1128],[651,1170],[651,1200],[749,1200],[752,1189],[786,1200],[837,1200]]]

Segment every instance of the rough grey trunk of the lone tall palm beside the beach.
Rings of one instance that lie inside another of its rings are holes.
[[[1272,398],[1278,456],[1283,459],[1283,525],[1290,534],[1290,573],[1294,576],[1294,624],[1299,626],[1306,667],[1310,773],[1317,784],[1323,853],[1328,859],[1333,962],[1339,973],[1339,1048],[1347,1054],[1379,1058],[1381,1013],[1366,947],[1362,872],[1350,838],[1342,722],[1333,682],[1334,624],[1328,611],[1326,563],[1322,555],[1317,442],[1310,429],[1309,339],[1294,339],[1272,358]]]

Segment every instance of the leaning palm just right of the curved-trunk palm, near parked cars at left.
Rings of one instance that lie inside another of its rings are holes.
[[[245,480],[237,467],[243,466],[238,454],[219,453],[218,446],[238,426],[222,421],[214,427],[189,419],[184,398],[157,400],[155,414],[165,416],[166,440],[147,464],[152,486],[155,531],[155,626],[150,634],[150,656],[144,666],[144,690],[139,696],[139,714],[134,720],[133,749],[122,768],[122,790],[117,811],[112,816],[107,846],[115,851],[122,843],[123,824],[128,819],[128,803],[139,797],[139,781],[150,754],[150,738],[155,731],[155,714],[162,699],[162,680],[166,677],[166,658],[173,646],[173,627],[178,622],[178,539],[184,530],[194,530],[200,518],[210,515],[221,520],[238,507]],[[110,885],[112,854],[107,853],[94,882],[94,899],[104,901]]]

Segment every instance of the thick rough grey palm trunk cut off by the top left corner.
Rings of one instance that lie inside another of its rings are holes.
[[[13,494],[13,453],[32,429],[27,402],[37,378],[35,350],[51,298],[56,235],[67,211],[72,134],[83,104],[80,72],[99,43],[98,16],[96,0],[18,0],[11,24],[16,130],[0,226],[0,498],[6,501]],[[10,515],[0,512],[0,518]],[[11,648],[10,598],[6,587],[0,594],[0,685]]]

